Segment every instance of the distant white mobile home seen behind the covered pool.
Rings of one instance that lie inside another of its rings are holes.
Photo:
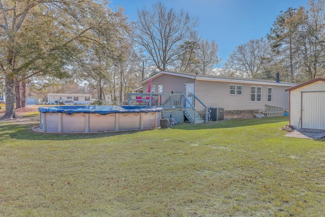
[[[90,94],[48,94],[50,105],[87,105],[91,103]]]

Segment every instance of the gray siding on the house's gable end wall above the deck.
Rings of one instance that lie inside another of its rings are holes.
[[[184,84],[189,83],[194,83],[194,79],[163,74],[154,78],[151,85],[156,86],[155,94],[158,94],[158,85],[163,85],[164,94],[171,94],[173,91],[174,93],[182,93],[185,95],[186,87],[184,87]],[[148,82],[143,83],[143,92],[148,92]]]

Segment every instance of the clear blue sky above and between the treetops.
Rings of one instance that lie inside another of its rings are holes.
[[[183,9],[199,18],[199,34],[219,45],[222,63],[241,43],[265,37],[280,11],[289,7],[307,7],[308,0],[161,0],[169,9]],[[110,6],[122,6],[125,14],[136,19],[137,9],[148,9],[155,0],[111,0]],[[222,63],[218,65],[222,66]]]

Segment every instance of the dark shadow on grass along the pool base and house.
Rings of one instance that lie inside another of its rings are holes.
[[[265,118],[254,118],[254,119],[232,119],[224,121],[212,121],[201,125],[191,125],[189,123],[180,123],[177,126],[173,126],[170,130],[209,130],[209,129],[222,129],[222,128],[236,128],[236,127],[247,127],[254,125],[263,125],[268,123],[278,123],[288,121],[288,117],[265,117]],[[78,140],[78,139],[93,139],[93,138],[105,138],[118,135],[135,134],[140,131],[126,131],[126,132],[111,132],[111,133],[95,133],[95,134],[64,134],[55,135],[50,133],[37,133],[32,132],[32,128],[37,127],[35,123],[18,123],[18,122],[7,122],[0,124],[0,137],[5,138],[9,136],[12,139],[19,140]],[[159,129],[158,131],[166,131],[168,129]]]

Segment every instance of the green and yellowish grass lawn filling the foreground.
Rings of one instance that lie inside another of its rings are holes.
[[[0,216],[324,216],[325,140],[287,117],[96,135],[0,122]]]

